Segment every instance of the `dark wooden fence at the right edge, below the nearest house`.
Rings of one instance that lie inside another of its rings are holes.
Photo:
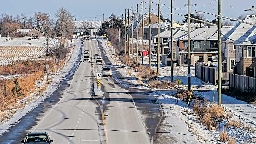
[[[255,92],[256,78],[249,76],[242,76],[236,74],[229,74],[229,89],[237,89],[241,92]]]

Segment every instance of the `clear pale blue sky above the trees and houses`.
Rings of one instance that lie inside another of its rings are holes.
[[[146,0],[145,2],[148,2]],[[153,13],[158,13],[158,0],[152,0],[152,10]],[[213,2],[213,3],[212,3]],[[188,0],[173,0],[173,7],[178,9],[174,10],[174,13],[179,13],[185,15],[187,13]],[[212,3],[212,4],[209,4]],[[105,18],[111,13],[116,15],[122,15],[125,13],[125,9],[134,6],[137,8],[137,4],[142,4],[141,0],[1,0],[0,14],[8,13],[11,15],[17,15],[20,13],[25,13],[28,16],[33,15],[36,11],[41,11],[49,13],[53,19],[55,19],[54,13],[58,8],[63,6],[68,9],[74,17],[79,20],[102,20],[103,13]],[[170,18],[170,5],[171,0],[161,0],[161,12],[164,18]],[[217,14],[218,13],[218,0],[190,0],[190,4],[197,4],[196,6],[191,6],[190,12],[204,11]],[[208,4],[208,5],[205,5]],[[204,6],[201,6],[204,5]],[[252,5],[256,6],[255,0],[222,0],[222,15],[231,18],[237,18],[239,14],[244,13],[244,9],[252,8]],[[145,8],[148,8],[149,4],[145,3]],[[142,5],[139,5],[139,10],[142,9]],[[147,12],[148,9],[145,9]],[[141,13],[142,11],[140,11]],[[251,12],[247,12],[251,14]],[[208,20],[215,19],[215,16],[206,15]],[[181,16],[174,15],[174,20],[182,23],[184,20]]]

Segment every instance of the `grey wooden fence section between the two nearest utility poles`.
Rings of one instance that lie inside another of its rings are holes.
[[[212,83],[216,85],[217,84],[217,68],[204,67],[196,64],[196,77],[204,82]]]

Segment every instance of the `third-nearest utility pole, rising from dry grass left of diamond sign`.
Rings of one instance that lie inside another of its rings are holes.
[[[173,0],[171,0],[171,27],[173,28]],[[174,62],[173,62],[173,29],[171,28],[171,81],[174,81]]]

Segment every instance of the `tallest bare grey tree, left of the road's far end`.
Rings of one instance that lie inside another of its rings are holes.
[[[74,28],[74,17],[67,9],[63,7],[57,10],[55,16],[58,20],[58,24],[56,25],[56,27],[61,35],[61,39],[64,37],[64,41],[62,44],[62,46],[64,47],[65,37],[70,35]]]

